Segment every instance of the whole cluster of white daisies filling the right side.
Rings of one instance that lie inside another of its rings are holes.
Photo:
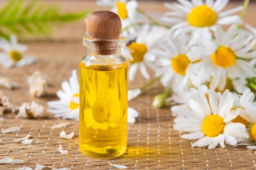
[[[249,0],[227,11],[222,10],[229,0],[177,1],[164,3],[171,11],[162,22],[137,9],[136,0],[97,4],[112,6],[121,18],[128,39],[122,54],[129,62],[129,80],[138,70],[150,79],[147,69],[153,70],[155,78],[144,87],[159,79],[166,91],[152,105],[171,104],[174,128],[188,132],[182,135],[186,139],[199,139],[192,146],[254,143],[256,28],[243,23]]]

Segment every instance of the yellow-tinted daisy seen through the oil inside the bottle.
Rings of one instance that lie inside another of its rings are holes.
[[[121,104],[119,99],[119,87],[115,84],[105,86],[104,82],[109,82],[110,75],[97,73],[96,79],[88,82],[85,89],[86,100],[88,103],[84,110],[81,110],[86,128],[94,130],[106,130],[119,126],[119,122],[124,119],[122,115],[126,104]],[[124,114],[125,116],[127,116]],[[121,120],[122,119],[122,120]]]

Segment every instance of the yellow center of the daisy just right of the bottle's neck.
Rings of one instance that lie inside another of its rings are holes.
[[[131,50],[131,55],[133,61],[129,61],[130,63],[141,62],[144,60],[144,55],[147,53],[148,48],[145,44],[140,44],[137,42],[131,43],[128,48]]]

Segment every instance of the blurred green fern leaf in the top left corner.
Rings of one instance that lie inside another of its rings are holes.
[[[43,5],[34,0],[24,6],[25,0],[10,0],[0,9],[0,37],[7,38],[10,34],[49,34],[54,31],[54,24],[71,22],[85,18],[89,11],[77,13],[59,13],[56,5]]]

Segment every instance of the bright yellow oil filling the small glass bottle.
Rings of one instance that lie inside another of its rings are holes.
[[[127,148],[128,64],[80,62],[79,147],[90,157],[110,158]]]

